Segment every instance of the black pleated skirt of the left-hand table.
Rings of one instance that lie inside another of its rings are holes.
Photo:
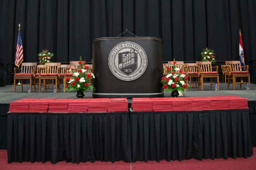
[[[8,163],[131,162],[128,112],[8,114]]]

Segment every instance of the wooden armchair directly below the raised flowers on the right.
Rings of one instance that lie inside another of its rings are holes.
[[[197,61],[196,62],[197,71],[198,71],[198,90],[199,87],[203,90],[203,84],[211,84],[211,90],[212,85],[215,84],[212,82],[212,78],[217,78],[217,85],[218,90],[220,90],[219,86],[219,74],[218,74],[218,66],[212,67],[212,63],[209,61]],[[216,71],[212,71],[212,68],[216,68]],[[210,83],[204,83],[204,78],[211,78]]]

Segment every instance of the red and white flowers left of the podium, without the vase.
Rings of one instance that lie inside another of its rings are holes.
[[[78,70],[75,68],[69,69],[70,73],[72,73],[72,77],[67,77],[66,80],[68,81],[66,85],[67,91],[82,91],[85,92],[86,90],[94,90],[93,85],[90,83],[90,79],[95,78],[94,75],[87,74],[89,67],[82,65],[82,57],[80,57],[80,64]]]

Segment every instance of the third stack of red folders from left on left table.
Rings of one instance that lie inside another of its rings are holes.
[[[72,99],[56,99],[49,102],[48,112],[50,113],[63,113],[68,112],[68,102]]]

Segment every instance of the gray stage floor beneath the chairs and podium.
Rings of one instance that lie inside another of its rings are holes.
[[[28,93],[27,85],[24,85],[24,92],[21,91],[21,86],[16,86],[16,92],[13,92],[13,85],[6,85],[0,87],[0,103],[10,103],[11,101],[24,99],[24,98],[57,98],[57,99],[76,99],[76,92],[60,92],[53,93],[52,89],[45,90],[41,93],[36,92]],[[125,92],[124,92],[125,93]],[[204,91],[197,90],[197,88],[191,89],[191,91],[183,92],[185,97],[197,97],[197,96],[240,96],[248,98],[248,100],[256,100],[256,84],[251,83],[251,90],[246,90],[246,85],[242,84],[242,89],[240,85],[236,84],[236,90],[233,90],[233,86],[230,85],[228,90],[227,83],[220,83],[220,91],[214,91],[214,85],[211,86],[208,84],[204,85]],[[84,98],[92,98],[92,91],[86,91]],[[164,93],[164,97],[170,97],[171,92]],[[130,101],[129,101],[130,102]]]

